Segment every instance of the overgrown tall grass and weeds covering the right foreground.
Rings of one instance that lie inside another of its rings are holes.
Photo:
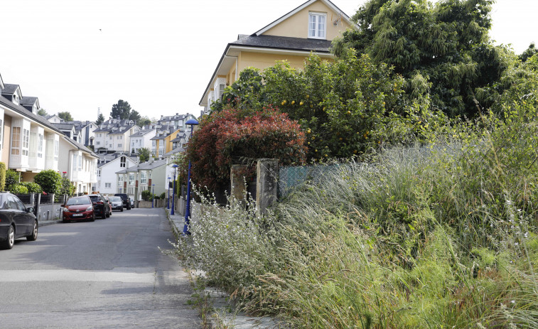
[[[178,253],[296,328],[538,328],[538,131],[487,128],[340,166],[264,216],[205,200]]]

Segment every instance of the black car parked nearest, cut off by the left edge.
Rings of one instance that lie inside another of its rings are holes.
[[[38,238],[38,220],[33,207],[25,207],[15,195],[0,193],[0,248],[11,249],[15,239],[26,237],[28,241]]]

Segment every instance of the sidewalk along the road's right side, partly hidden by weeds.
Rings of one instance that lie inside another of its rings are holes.
[[[185,226],[185,217],[181,216],[179,212],[175,212],[171,215],[171,210],[166,209],[166,215],[170,221],[172,230],[176,237],[180,237],[183,234],[183,227]],[[196,212],[193,211],[193,214]],[[192,219],[195,222],[195,218]],[[210,301],[212,301],[213,313],[210,314],[210,328],[235,328],[235,329],[269,329],[269,328],[282,328],[278,321],[274,318],[259,318],[254,316],[248,316],[244,313],[234,314],[230,313],[230,304],[228,303],[227,295],[213,288],[206,287],[205,292],[209,293]],[[222,326],[222,325],[224,326]]]

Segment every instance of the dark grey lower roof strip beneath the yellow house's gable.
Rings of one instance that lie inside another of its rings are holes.
[[[323,39],[291,38],[287,36],[240,35],[240,39],[230,43],[229,46],[230,45],[245,45],[259,48],[306,50],[316,51],[318,53],[328,53],[330,41]]]

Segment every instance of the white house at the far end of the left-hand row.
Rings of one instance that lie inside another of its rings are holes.
[[[86,146],[62,136],[60,153],[63,161],[58,163],[60,172],[65,172],[75,184],[75,193],[91,193],[97,185],[97,160],[99,156]]]

